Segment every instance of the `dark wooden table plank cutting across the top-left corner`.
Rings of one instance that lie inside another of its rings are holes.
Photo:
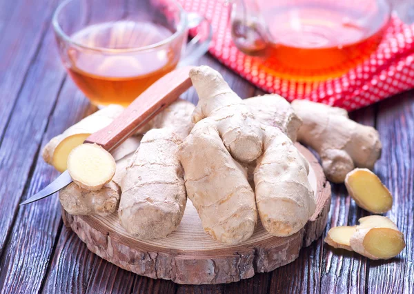
[[[49,28],[57,0],[1,1],[0,11],[0,137],[28,79],[28,68],[37,56],[39,44]],[[1,244],[1,239],[0,239]]]

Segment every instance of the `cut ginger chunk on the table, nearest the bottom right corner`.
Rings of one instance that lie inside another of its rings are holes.
[[[334,248],[345,248],[369,259],[390,259],[406,246],[404,234],[395,224],[380,215],[359,219],[358,226],[331,228],[325,242]]]

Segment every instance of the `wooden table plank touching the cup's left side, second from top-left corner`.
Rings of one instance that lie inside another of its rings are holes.
[[[50,32],[28,72],[0,147],[0,252],[64,77],[59,59],[49,59],[52,46]]]

